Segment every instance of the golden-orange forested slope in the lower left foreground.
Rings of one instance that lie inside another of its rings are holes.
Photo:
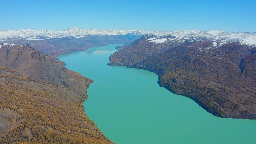
[[[111,143],[85,115],[85,94],[3,66],[0,89],[0,143]]]

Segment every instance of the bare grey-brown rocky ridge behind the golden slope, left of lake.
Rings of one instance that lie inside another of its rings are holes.
[[[52,84],[59,84],[79,93],[89,86],[91,79],[67,70],[64,62],[45,55],[30,46],[0,44],[0,65],[14,69],[23,76],[36,78]]]

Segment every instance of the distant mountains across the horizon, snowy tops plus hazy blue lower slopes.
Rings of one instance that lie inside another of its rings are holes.
[[[0,42],[19,43],[32,46],[47,55],[58,56],[73,51],[83,51],[90,47],[105,46],[109,43],[131,43],[141,36],[149,34],[149,41],[189,43],[196,41],[223,40],[223,42],[240,41],[245,44],[255,45],[254,33],[226,32],[226,31],[147,31],[147,30],[86,30],[77,27],[67,28],[62,31],[49,30],[7,30],[0,31]],[[165,39],[164,36],[167,38]],[[162,37],[162,38],[161,38]]]

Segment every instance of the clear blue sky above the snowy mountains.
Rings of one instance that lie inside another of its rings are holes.
[[[256,31],[250,1],[0,0],[0,30],[84,29]]]

